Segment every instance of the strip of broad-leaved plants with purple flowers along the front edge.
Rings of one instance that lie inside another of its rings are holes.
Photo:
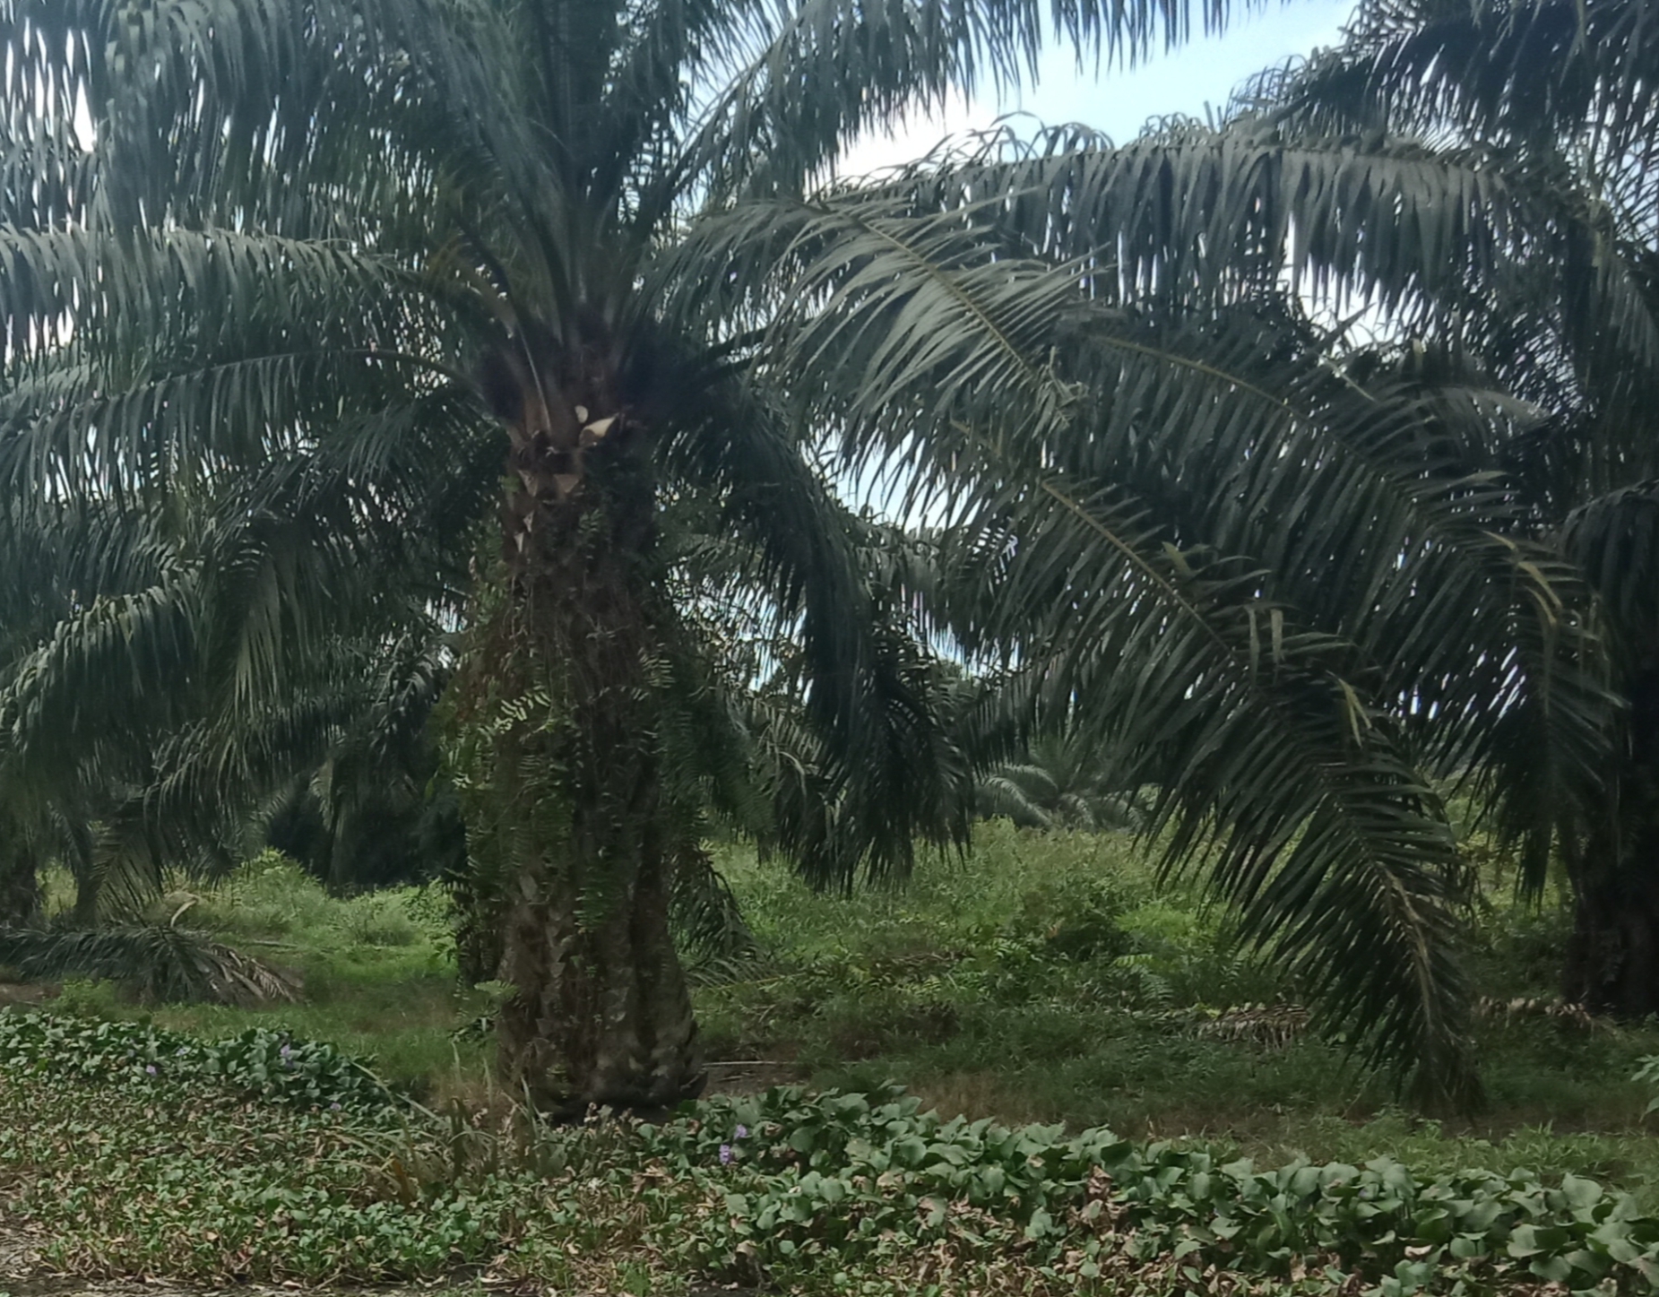
[[[1579,1178],[1423,1176],[1387,1158],[1261,1171],[1100,1128],[942,1120],[896,1090],[783,1086],[662,1125],[441,1116],[362,1088],[309,1042],[284,1047],[315,1095],[262,1090],[284,1057],[257,1042],[252,1070],[216,1068],[146,1027],[20,1022],[0,1042],[5,1219],[76,1274],[368,1282],[469,1265],[554,1290],[1113,1297],[1613,1294],[1659,1277],[1659,1221]]]

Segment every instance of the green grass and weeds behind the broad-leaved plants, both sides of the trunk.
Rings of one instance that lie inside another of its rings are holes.
[[[720,862],[761,957],[740,980],[698,987],[703,1042],[715,1061],[766,1066],[717,1066],[717,1088],[898,1081],[947,1116],[1203,1138],[1269,1164],[1387,1153],[1425,1169],[1528,1166],[1591,1174],[1659,1207],[1651,1095],[1631,1080],[1659,1053],[1652,1028],[1483,1022],[1490,1108],[1432,1123],[1335,1045],[1306,1033],[1281,1043],[1223,1017],[1296,1000],[1296,987],[1231,950],[1226,916],[1190,886],[1161,886],[1121,836],[984,824],[967,859],[927,859],[904,889],[853,896],[813,894],[747,849],[722,849]],[[1513,907],[1501,861],[1485,864],[1481,990],[1548,997],[1559,914]],[[262,857],[212,887],[176,882],[156,912],[186,901],[181,922],[302,972],[305,1003],[164,1007],[159,1025],[214,1037],[284,1027],[373,1055],[380,1075],[431,1101],[488,1088],[488,1045],[455,1038],[488,997],[456,990],[435,889],[337,899]],[[143,1013],[108,987],[73,985],[66,1003]]]

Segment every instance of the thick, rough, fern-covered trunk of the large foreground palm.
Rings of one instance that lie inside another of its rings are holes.
[[[544,395],[549,373],[562,381]],[[513,435],[504,589],[471,672],[498,717],[491,819],[474,813],[473,834],[514,989],[501,1068],[566,1115],[664,1108],[703,1073],[669,927],[675,862],[695,841],[660,771],[667,620],[645,430],[591,355],[534,375],[508,362],[486,391]]]

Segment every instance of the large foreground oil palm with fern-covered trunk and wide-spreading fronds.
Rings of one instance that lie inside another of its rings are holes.
[[[669,909],[735,761],[770,771],[760,831],[820,881],[961,833],[937,634],[1024,718],[1155,770],[1171,861],[1211,869],[1329,1022],[1473,1093],[1432,776],[1472,770],[1553,833],[1540,808],[1584,804],[1608,753],[1606,653],[1490,476],[1505,393],[1345,347],[1284,285],[1415,305],[1453,279],[1450,236],[1508,229],[1498,179],[1258,121],[823,181],[859,129],[1020,75],[1042,15],[1002,0],[5,17],[15,496],[304,464],[392,572],[435,498],[504,471],[446,710],[501,884],[503,1061],[539,1101],[698,1085]],[[1057,17],[1130,53],[1186,22]],[[1518,260],[1470,242],[1475,269]],[[826,459],[904,466],[936,587],[879,561]],[[801,707],[730,705],[690,537]]]

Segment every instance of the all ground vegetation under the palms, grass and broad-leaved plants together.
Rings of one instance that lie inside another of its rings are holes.
[[[717,857],[757,949],[695,1000],[748,1093],[647,1126],[538,1120],[469,1043],[488,1000],[453,980],[433,889],[330,899],[265,857],[194,911],[282,939],[314,1002],[70,984],[0,1017],[5,1219],[55,1267],[204,1280],[1646,1290],[1659,1139],[1634,1073],[1659,1035],[1540,1012],[1566,909],[1531,942],[1510,914],[1485,929],[1491,1110],[1465,1126],[1311,1037],[1282,972],[1126,836],[992,823],[966,861],[851,901]]]

